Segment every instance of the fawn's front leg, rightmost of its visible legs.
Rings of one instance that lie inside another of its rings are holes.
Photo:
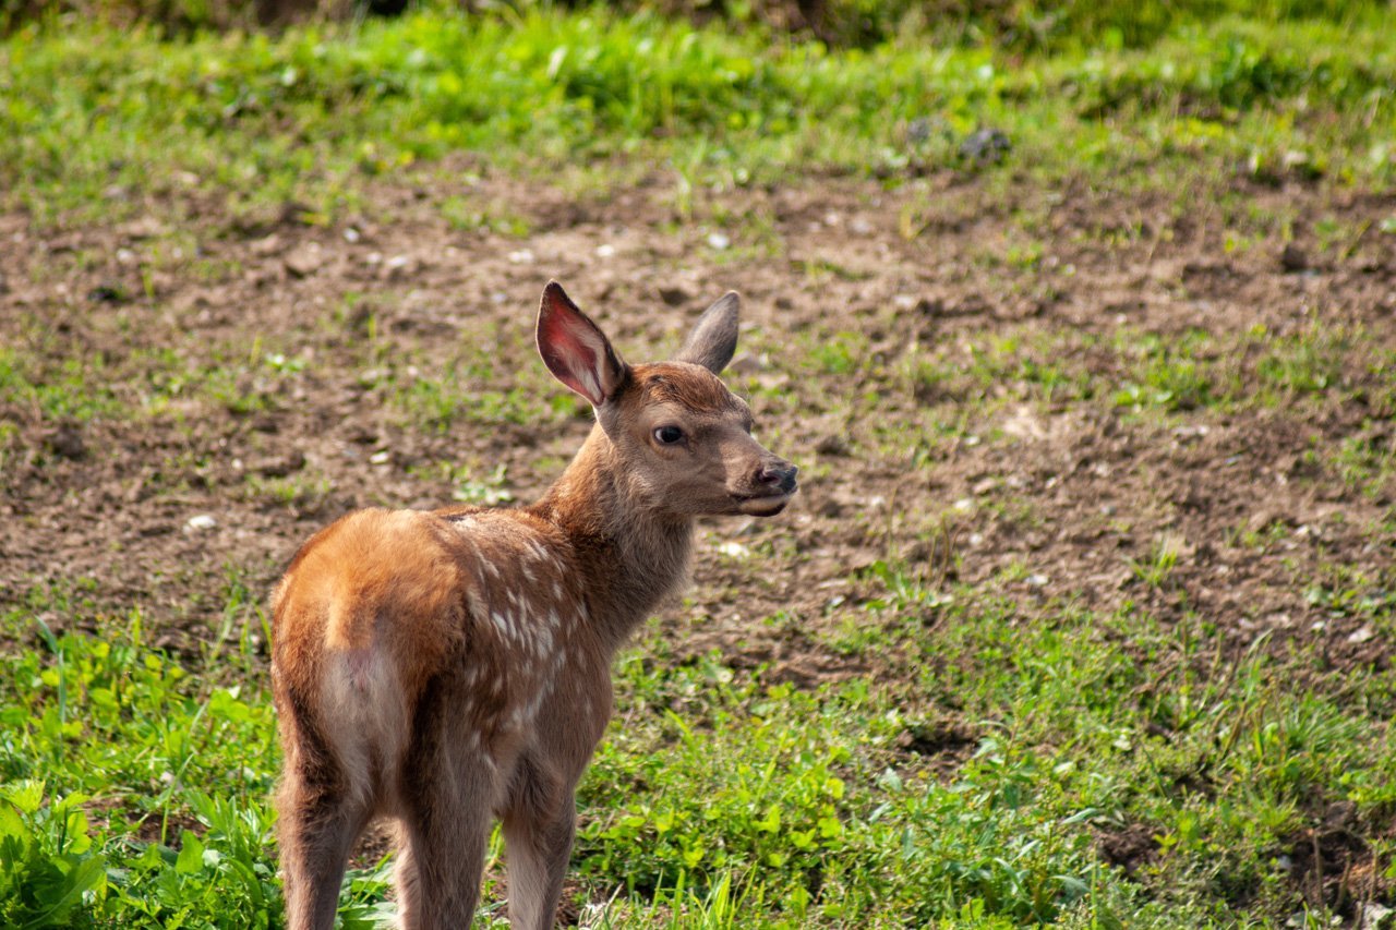
[[[577,831],[575,785],[521,760],[503,821],[510,926],[547,930],[557,919]]]

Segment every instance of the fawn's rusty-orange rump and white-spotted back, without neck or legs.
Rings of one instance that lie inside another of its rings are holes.
[[[343,761],[373,746],[374,769],[401,758],[396,735],[429,693],[458,705],[483,746],[512,746],[568,656],[591,652],[572,557],[554,533],[521,511],[475,510],[364,510],[325,528],[272,600],[286,709],[334,709],[324,716],[342,732],[328,741]]]

